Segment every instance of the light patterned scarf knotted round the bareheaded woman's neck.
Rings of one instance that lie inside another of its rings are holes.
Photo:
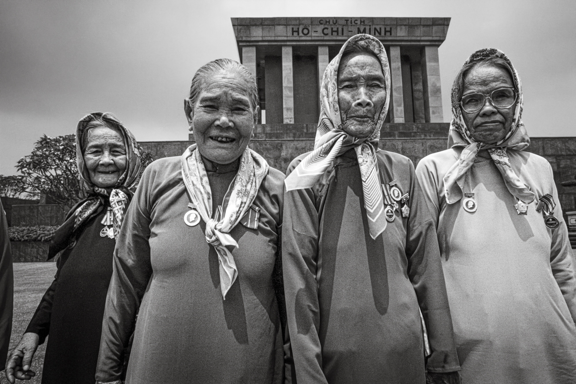
[[[204,162],[196,144],[191,145],[183,153],[180,163],[182,166],[182,180],[190,195],[194,208],[206,223],[206,242],[214,247],[218,254],[218,268],[220,273],[220,290],[222,298],[226,300],[234,281],[238,277],[238,268],[234,256],[227,246],[238,248],[236,240],[230,236],[230,231],[242,219],[252,205],[260,184],[268,175],[268,163],[264,157],[252,149],[246,148],[240,158],[240,167],[230,187],[226,192],[219,212],[212,212],[212,194],[210,182],[204,168]]]

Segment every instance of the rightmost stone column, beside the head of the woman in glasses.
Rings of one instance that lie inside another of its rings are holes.
[[[438,47],[425,46],[422,48],[422,91],[424,94],[424,115],[426,122],[444,122]]]

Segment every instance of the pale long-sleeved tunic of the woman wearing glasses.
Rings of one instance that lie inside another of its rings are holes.
[[[477,157],[463,188],[478,205],[471,213],[445,201],[443,178],[460,152],[429,155],[416,174],[437,226],[462,382],[576,383],[574,261],[550,164],[507,150],[537,196],[524,215],[494,161]],[[536,212],[544,194],[556,202],[556,229]]]

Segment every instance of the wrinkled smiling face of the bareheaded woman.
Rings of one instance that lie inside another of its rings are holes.
[[[259,110],[249,95],[247,81],[238,74],[214,73],[203,80],[194,106],[185,104],[196,145],[206,159],[229,164],[242,155]]]

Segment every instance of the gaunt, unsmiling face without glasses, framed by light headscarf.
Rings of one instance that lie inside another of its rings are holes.
[[[386,83],[378,59],[364,52],[346,55],[338,69],[338,106],[344,131],[367,137],[386,103]]]

